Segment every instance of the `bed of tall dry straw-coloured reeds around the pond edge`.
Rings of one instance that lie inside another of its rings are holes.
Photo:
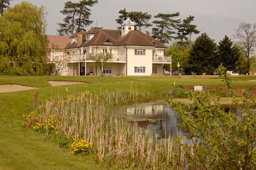
[[[163,99],[165,95],[130,90],[59,96],[40,107],[38,121],[47,124],[48,117],[54,115],[54,128],[45,131],[50,138],[63,140],[73,136],[92,143],[91,154],[107,167],[197,169],[198,165],[188,162],[187,156],[193,156],[193,148],[186,146],[184,140],[177,142],[168,135],[165,138],[150,136],[147,129],[128,125],[115,109],[130,103]]]

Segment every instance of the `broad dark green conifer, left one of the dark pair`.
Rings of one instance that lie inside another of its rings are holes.
[[[217,45],[214,40],[204,33],[199,36],[188,56],[188,70],[197,73],[212,73],[218,67],[216,58]]]

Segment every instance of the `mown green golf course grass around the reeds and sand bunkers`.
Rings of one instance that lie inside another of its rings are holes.
[[[255,78],[256,79],[256,78]],[[84,81],[86,84],[51,87],[52,81]],[[119,81],[119,83],[118,83]],[[31,108],[35,92],[43,102],[53,95],[76,91],[123,90],[130,88],[150,91],[168,91],[172,83],[187,85],[224,85],[218,79],[199,78],[142,78],[142,77],[58,77],[58,76],[5,76],[0,84],[20,84],[38,87],[36,90],[0,93],[0,169],[101,169],[93,158],[68,154],[56,143],[45,142],[41,134],[22,128],[22,115]],[[256,86],[255,82],[234,80],[233,85]]]

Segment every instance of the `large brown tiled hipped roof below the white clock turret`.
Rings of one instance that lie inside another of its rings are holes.
[[[96,34],[90,41],[86,41],[86,34]],[[73,34],[70,38],[76,37],[78,34]],[[82,32],[84,35],[83,43],[77,46],[77,43],[70,44],[66,43],[66,49],[76,48],[76,47],[88,47],[91,45],[101,45],[101,46],[123,46],[123,45],[133,45],[133,46],[149,46],[156,48],[166,48],[166,46],[156,39],[152,38],[148,34],[144,34],[141,31],[132,30],[129,31],[126,36],[121,35],[121,30],[107,30],[107,29],[90,29],[88,32]],[[106,42],[109,40],[110,42]]]

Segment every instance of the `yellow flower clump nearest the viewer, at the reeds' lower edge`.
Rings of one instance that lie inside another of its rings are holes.
[[[89,154],[92,150],[92,143],[86,140],[73,138],[73,141],[71,144],[72,152],[70,154]]]

